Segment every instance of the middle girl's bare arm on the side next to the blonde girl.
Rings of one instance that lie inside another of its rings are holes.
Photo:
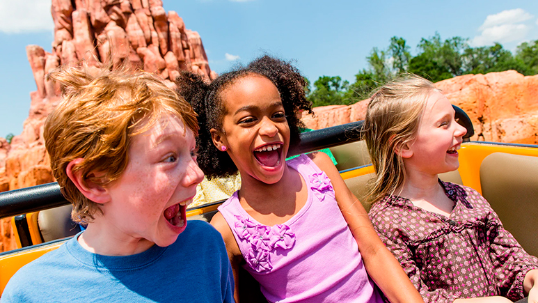
[[[393,254],[381,242],[363,205],[349,191],[338,169],[324,153],[308,154],[325,171],[334,187],[336,201],[351,230],[370,277],[390,302],[423,302]]]

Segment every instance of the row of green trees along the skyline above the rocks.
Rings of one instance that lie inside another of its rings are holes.
[[[307,97],[315,107],[329,104],[351,104],[370,97],[372,91],[406,72],[434,82],[466,74],[486,74],[516,70],[523,75],[538,74],[538,40],[523,42],[513,55],[503,45],[470,47],[468,39],[452,37],[442,40],[439,33],[417,45],[411,56],[406,40],[394,36],[387,49],[372,48],[366,57],[368,68],[359,70],[349,84],[336,77],[319,77]],[[308,80],[307,80],[308,81]]]

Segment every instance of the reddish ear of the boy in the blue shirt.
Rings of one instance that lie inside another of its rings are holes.
[[[76,186],[77,189],[79,189],[79,191],[90,201],[100,204],[110,201],[109,192],[106,190],[106,188],[88,180],[87,178],[84,178],[81,171],[74,170],[74,168],[82,162],[84,162],[84,159],[82,158],[72,160],[65,169],[65,172],[68,174],[68,177],[73,182],[74,186]],[[104,176],[104,173],[91,172],[89,175],[93,175],[98,178]]]

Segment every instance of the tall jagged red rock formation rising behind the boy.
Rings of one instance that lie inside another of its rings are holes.
[[[173,87],[180,70],[213,79],[202,40],[185,29],[177,13],[166,13],[160,0],[52,0],[52,52],[29,45],[26,54],[38,90],[31,93],[29,118],[11,144],[0,138],[0,192],[53,182],[43,141],[43,124],[60,100],[57,85],[45,75],[61,64],[97,60],[114,65],[128,59],[155,72]],[[7,219],[0,222],[0,251],[15,248]]]

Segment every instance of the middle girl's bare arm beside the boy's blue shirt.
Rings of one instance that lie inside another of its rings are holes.
[[[234,274],[234,299],[236,303],[239,303],[239,263],[243,256],[241,251],[239,251],[237,242],[235,242],[230,226],[228,226],[228,223],[220,212],[217,212],[213,216],[210,223],[217,231],[219,231],[219,233],[221,233],[224,244],[226,245],[226,251],[228,251],[228,258],[230,258],[232,272]]]

